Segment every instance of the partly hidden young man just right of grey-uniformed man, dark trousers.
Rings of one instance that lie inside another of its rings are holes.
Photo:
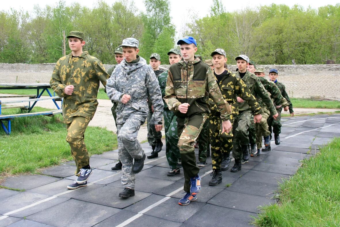
[[[150,56],[150,66],[153,70],[153,72],[156,75],[156,78],[158,78],[158,76],[164,72],[164,70],[159,69],[159,65],[160,65],[160,56],[159,54],[153,53]],[[148,142],[149,145],[152,147],[152,152],[150,155],[148,155],[147,158],[155,158],[158,157],[158,153],[162,150],[163,147],[163,142],[162,142],[162,132],[157,132],[155,130],[155,126],[152,124],[149,124],[152,115],[153,115],[153,109],[152,109],[152,105],[151,102],[148,102],[149,104],[149,114],[148,114]]]

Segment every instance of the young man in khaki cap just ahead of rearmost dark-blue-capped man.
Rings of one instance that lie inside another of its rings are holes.
[[[274,82],[269,81],[265,78],[265,73],[263,67],[257,67],[255,70],[255,75],[260,79],[261,83],[265,87],[265,89],[271,94],[273,104],[277,109],[281,107],[286,107],[288,106],[287,100],[281,95],[280,90],[278,87],[274,84]],[[267,124],[267,119],[270,116],[270,112],[267,108],[266,105],[262,103],[262,100],[259,98],[258,102],[260,103],[261,107],[263,108],[263,113],[262,113],[262,119],[260,123],[256,123],[256,145],[257,145],[257,151],[253,153],[252,151],[250,152],[251,156],[256,157],[257,155],[260,154],[260,148],[262,147],[262,136],[265,138],[265,148],[262,149],[262,151],[270,151],[270,138],[269,134],[270,132],[268,131],[268,124]]]

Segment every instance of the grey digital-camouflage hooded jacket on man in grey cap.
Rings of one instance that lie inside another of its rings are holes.
[[[148,97],[154,108],[150,123],[162,124],[163,101],[158,81],[146,60],[138,58],[139,61],[136,63],[128,63],[123,59],[107,80],[107,96],[118,103],[117,124],[123,124],[132,114],[145,122],[149,112]],[[123,94],[131,96],[131,100],[126,104],[120,101]]]

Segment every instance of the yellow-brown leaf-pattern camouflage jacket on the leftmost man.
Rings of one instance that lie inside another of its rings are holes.
[[[92,119],[98,101],[99,81],[106,85],[108,73],[100,60],[84,51],[79,57],[72,58],[72,53],[60,58],[55,64],[50,85],[63,100],[64,122],[74,116]],[[73,85],[71,95],[65,94],[65,87]]]

